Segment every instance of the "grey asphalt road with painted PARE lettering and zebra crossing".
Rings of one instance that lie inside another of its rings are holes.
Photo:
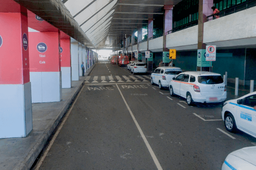
[[[225,130],[222,106],[190,107],[149,80],[97,63],[34,170],[220,170],[230,152],[256,142]]]

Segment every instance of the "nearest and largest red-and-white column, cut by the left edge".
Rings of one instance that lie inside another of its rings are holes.
[[[5,2],[16,11],[0,13],[0,138],[26,137],[33,127],[27,9]]]

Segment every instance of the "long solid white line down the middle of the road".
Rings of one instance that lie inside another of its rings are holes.
[[[123,101],[124,101],[126,107],[128,108],[128,111],[129,111],[130,115],[132,116],[132,118],[133,118],[133,120],[134,120],[134,122],[135,122],[135,125],[137,126],[137,129],[139,130],[139,132],[140,132],[140,134],[141,134],[141,137],[142,137],[144,143],[146,144],[146,146],[147,146],[147,148],[148,148],[148,151],[149,151],[151,157],[153,158],[153,160],[154,160],[154,162],[155,162],[155,165],[156,165],[157,169],[158,169],[158,170],[162,170],[162,167],[161,167],[161,165],[160,165],[158,159],[156,158],[154,151],[152,150],[151,146],[149,145],[148,140],[146,139],[144,133],[142,132],[140,125],[138,124],[137,120],[135,119],[134,114],[132,113],[130,107],[128,106],[128,104],[127,104],[125,98],[123,97],[123,94],[122,94],[120,88],[118,87],[117,84],[115,84],[115,85],[116,85],[116,87],[118,88],[118,90],[119,90],[119,92],[120,92],[120,94],[121,94],[121,96],[122,96],[122,99],[123,99]]]

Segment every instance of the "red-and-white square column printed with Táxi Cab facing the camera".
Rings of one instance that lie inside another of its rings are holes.
[[[29,32],[32,103],[62,100],[60,31]]]

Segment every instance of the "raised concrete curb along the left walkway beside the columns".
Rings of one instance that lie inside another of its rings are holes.
[[[66,103],[64,104],[65,107],[63,107],[59,112],[59,114],[56,116],[56,119],[54,120],[53,125],[47,128],[47,130],[43,133],[43,135],[40,137],[38,142],[33,146],[31,151],[29,151],[24,161],[18,164],[17,165],[18,167],[16,166],[14,170],[30,170],[31,166],[34,164],[34,161],[36,160],[40,152],[43,150],[43,148],[47,144],[48,139],[51,137],[55,128],[58,126],[62,117],[66,114],[68,107],[70,106],[70,104],[72,103],[76,95],[80,92],[83,85],[84,85],[84,81],[82,81],[82,83],[74,91],[73,95],[66,101]]]

